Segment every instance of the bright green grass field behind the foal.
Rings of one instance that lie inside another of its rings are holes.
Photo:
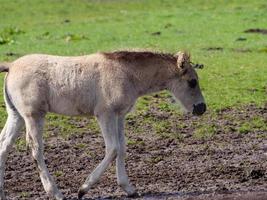
[[[0,60],[30,53],[188,50],[194,62],[205,64],[199,76],[211,111],[263,105],[267,35],[244,33],[250,28],[267,28],[266,0],[0,0]],[[141,99],[137,109],[149,108],[149,101]],[[6,117],[2,93],[0,104],[2,126]],[[68,118],[50,117],[60,119],[54,125],[70,126]]]

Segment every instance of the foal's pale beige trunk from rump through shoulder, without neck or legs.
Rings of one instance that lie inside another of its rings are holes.
[[[91,115],[96,108],[125,104],[128,82],[122,66],[100,53],[27,55],[12,63],[7,79],[19,107],[64,115]]]

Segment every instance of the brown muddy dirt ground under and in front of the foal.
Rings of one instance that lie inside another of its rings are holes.
[[[127,121],[127,170],[140,194],[136,199],[267,200],[267,132],[240,133],[240,122],[253,117],[267,120],[267,107],[248,105],[211,113],[202,123],[216,126],[216,134],[196,138],[201,119],[152,109]],[[167,131],[180,139],[162,136],[143,121],[145,116],[171,121]],[[185,124],[178,127],[179,122]],[[78,123],[78,122],[77,122]],[[143,133],[136,133],[139,127]],[[179,129],[178,129],[179,128]],[[182,138],[182,139],[181,139]],[[45,140],[50,172],[68,199],[104,157],[100,134],[73,134]],[[49,199],[29,151],[13,151],[8,159],[5,191],[9,199]],[[85,199],[130,199],[117,186],[114,164]]]

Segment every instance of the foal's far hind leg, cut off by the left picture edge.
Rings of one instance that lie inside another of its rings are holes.
[[[4,173],[7,155],[15,139],[19,136],[23,119],[7,105],[8,118],[0,135],[0,200],[4,200]]]

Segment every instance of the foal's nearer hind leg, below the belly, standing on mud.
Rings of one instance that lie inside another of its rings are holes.
[[[63,200],[64,196],[58,190],[53,177],[49,174],[44,160],[44,147],[42,138],[42,129],[44,117],[24,117],[26,124],[27,137],[32,149],[33,159],[36,161],[38,171],[45,191],[57,200]]]

